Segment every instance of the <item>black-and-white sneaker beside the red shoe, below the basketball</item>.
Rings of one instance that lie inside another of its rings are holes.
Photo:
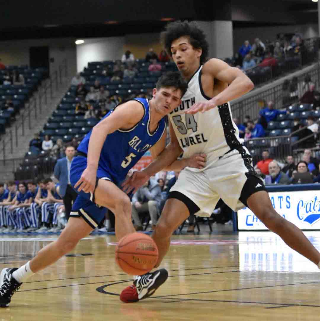
[[[133,284],[137,288],[138,299],[146,299],[155,293],[156,289],[162,285],[168,278],[166,269],[156,270],[152,273],[137,275]]]

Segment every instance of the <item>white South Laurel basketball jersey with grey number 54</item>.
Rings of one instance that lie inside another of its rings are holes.
[[[183,149],[182,157],[189,158],[195,153],[205,153],[208,167],[230,150],[242,148],[244,140],[239,138],[239,130],[232,119],[229,103],[204,113],[185,113],[193,104],[211,99],[202,90],[201,69],[202,66],[188,82],[188,90],[182,97],[181,105],[168,116]]]

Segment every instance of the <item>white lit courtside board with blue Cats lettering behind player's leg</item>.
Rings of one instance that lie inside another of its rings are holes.
[[[320,230],[320,191],[269,193],[273,208],[301,230]],[[249,210],[237,212],[239,230],[268,230]]]

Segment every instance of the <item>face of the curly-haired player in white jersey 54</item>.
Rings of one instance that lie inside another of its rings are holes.
[[[193,48],[189,37],[180,37],[171,43],[171,54],[182,74],[193,74],[199,68],[202,49]]]

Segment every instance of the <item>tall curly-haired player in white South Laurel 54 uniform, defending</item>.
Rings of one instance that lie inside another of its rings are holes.
[[[242,145],[243,140],[233,122],[229,101],[252,90],[251,80],[222,60],[207,61],[208,42],[194,22],[169,23],[161,37],[166,51],[188,81],[188,90],[181,105],[168,115],[170,144],[146,169],[135,172],[124,184],[124,189],[138,188],[163,168],[174,170],[175,158],[182,152],[183,158],[203,153],[207,159],[203,169],[184,168],[170,189],[152,235],[159,248],[156,266],[168,251],[173,231],[191,214],[212,213],[222,198],[234,211],[249,207],[291,248],[320,267],[320,253],[316,248],[301,230],[272,207],[263,182],[253,169],[252,157]],[[120,299],[125,302],[144,299],[154,293],[155,286],[150,284],[155,282],[161,285],[148,275],[138,276],[133,286],[122,291]]]

